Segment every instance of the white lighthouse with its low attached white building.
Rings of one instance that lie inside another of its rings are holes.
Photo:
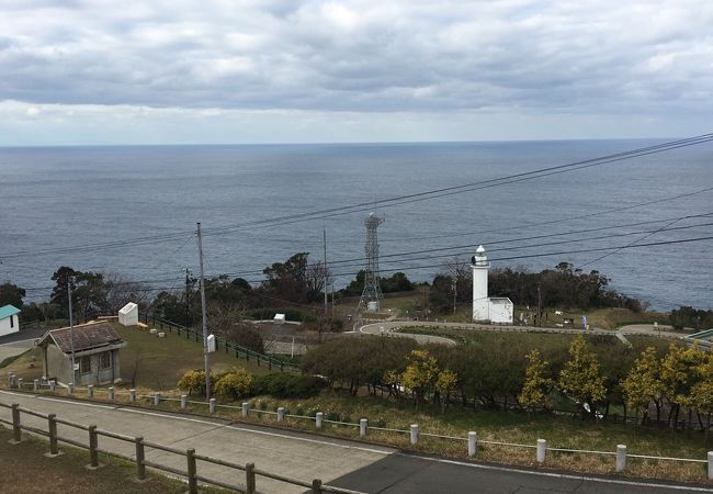
[[[485,247],[479,246],[472,258],[473,269],[473,321],[494,324],[512,324],[514,305],[508,297],[488,296],[488,271],[490,262]]]

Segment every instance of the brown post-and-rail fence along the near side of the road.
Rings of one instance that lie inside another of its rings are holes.
[[[43,437],[47,437],[49,440],[49,456],[54,457],[59,454],[59,442],[64,442],[77,448],[82,448],[89,450],[89,468],[97,469],[99,464],[99,453],[103,453],[111,457],[116,457],[132,463],[136,463],[136,478],[139,481],[146,480],[146,468],[151,468],[155,470],[160,470],[163,472],[169,472],[174,475],[185,478],[189,484],[189,493],[197,494],[199,492],[199,482],[205,484],[216,485],[218,487],[227,489],[230,491],[237,491],[247,494],[258,493],[257,491],[257,478],[262,476],[267,479],[272,479],[279,482],[284,482],[291,485],[297,485],[301,487],[310,489],[314,494],[319,493],[335,493],[335,494],[365,494],[360,491],[352,491],[349,489],[337,487],[335,485],[322,484],[321,480],[314,479],[312,482],[304,481],[301,479],[291,478],[287,475],[281,475],[279,473],[269,472],[265,470],[257,469],[254,463],[236,463],[231,461],[226,461],[220,458],[208,457],[205,454],[199,454],[195,452],[194,448],[189,449],[178,449],[170,446],[160,445],[152,441],[147,441],[140,436],[133,437],[126,436],[124,434],[114,433],[111,430],[99,429],[95,425],[83,425],[78,424],[71,420],[65,420],[57,418],[55,414],[44,414],[29,408],[23,408],[19,404],[13,403],[8,405],[0,402],[0,407],[10,408],[12,411],[12,419],[7,420],[0,417],[1,424],[7,424],[12,427],[12,442],[18,444],[22,441],[22,431],[33,433]],[[47,429],[33,427],[26,424],[23,424],[21,420],[21,414],[31,415],[37,418],[47,420]],[[68,427],[73,427],[76,429],[84,430],[88,433],[88,442],[80,442],[73,439],[61,437],[57,434],[57,425],[61,424]],[[99,438],[107,437],[112,439],[117,439],[120,441],[125,441],[133,444],[135,447],[135,454],[127,456],[120,453],[117,451],[110,451],[107,449],[101,449],[99,447]],[[156,449],[159,451],[172,453],[179,457],[185,457],[185,470],[177,469],[169,467],[167,464],[157,463],[146,459],[146,448]],[[200,475],[197,472],[197,462],[202,461],[205,463],[217,464],[220,467],[226,467],[228,469],[238,470],[245,472],[245,485],[235,485],[227,482],[223,482],[213,478]]]

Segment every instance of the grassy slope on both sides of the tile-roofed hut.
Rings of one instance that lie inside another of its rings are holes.
[[[113,327],[127,343],[120,350],[120,369],[124,383],[131,384],[135,377],[135,386],[156,391],[176,389],[177,381],[186,371],[203,368],[203,345],[194,339],[179,337],[176,333],[167,333],[166,338],[151,335],[147,328],[125,327],[113,324]],[[225,353],[223,348],[211,353],[213,372],[226,372],[233,367],[242,367],[253,374],[267,373],[263,363],[258,366],[254,360],[247,362],[237,359],[234,353]],[[2,369],[13,371],[25,382],[42,377],[42,356],[35,348],[22,355]]]

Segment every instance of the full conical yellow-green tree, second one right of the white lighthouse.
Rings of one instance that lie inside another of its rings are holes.
[[[582,418],[586,414],[596,416],[596,404],[604,398],[607,390],[597,355],[587,350],[581,335],[569,347],[569,360],[559,372],[558,384],[564,394],[577,402]]]

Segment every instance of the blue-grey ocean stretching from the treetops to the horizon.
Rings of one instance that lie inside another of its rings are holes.
[[[53,272],[70,266],[180,289],[186,268],[199,272],[192,233],[201,222],[206,273],[253,284],[265,266],[295,252],[320,260],[324,229],[339,289],[364,263],[363,222],[373,211],[384,216],[383,276],[400,270],[430,281],[450,259],[469,259],[483,244],[494,268],[541,270],[567,261],[600,271],[612,288],[653,308],[711,308],[713,242],[680,242],[713,236],[713,216],[686,217],[713,213],[713,191],[704,191],[713,187],[711,143],[381,202],[657,143],[0,148],[0,282],[42,301]],[[354,204],[362,206],[295,221]],[[273,221],[283,216],[292,220]],[[669,244],[615,249],[637,242]],[[608,250],[593,250],[600,248]]]

